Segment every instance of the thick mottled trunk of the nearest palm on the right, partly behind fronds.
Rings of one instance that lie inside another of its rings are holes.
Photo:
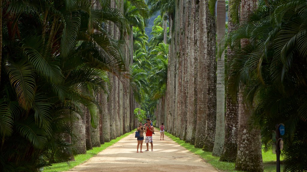
[[[243,0],[241,2],[240,22],[244,22],[248,13],[256,8],[257,0]],[[241,47],[248,44],[247,39],[241,40]],[[238,151],[235,162],[236,170],[263,172],[261,154],[260,130],[251,129],[248,120],[253,107],[247,107],[244,103],[243,95],[239,92],[239,136]]]

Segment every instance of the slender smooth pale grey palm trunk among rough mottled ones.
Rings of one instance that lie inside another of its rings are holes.
[[[220,45],[225,36],[225,22],[226,22],[226,6],[225,0],[217,1],[217,47],[218,52],[221,50]],[[225,85],[222,80],[223,66],[224,66],[224,52],[221,58],[217,58],[217,83],[216,83],[216,133],[214,147],[212,151],[213,156],[220,156],[223,152],[223,145],[225,140]]]

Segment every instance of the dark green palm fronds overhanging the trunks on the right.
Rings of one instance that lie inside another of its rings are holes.
[[[266,149],[275,125],[285,124],[285,171],[307,170],[306,14],[306,1],[261,1],[229,39],[235,54],[227,84],[255,106],[250,122],[262,129]],[[240,47],[242,39],[247,46]]]

